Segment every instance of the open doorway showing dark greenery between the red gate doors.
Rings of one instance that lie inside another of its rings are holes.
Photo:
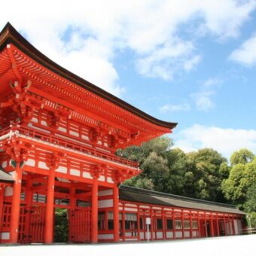
[[[67,209],[55,208],[54,242],[69,242],[69,220]]]

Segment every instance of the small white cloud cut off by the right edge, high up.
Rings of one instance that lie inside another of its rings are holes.
[[[230,54],[230,59],[245,66],[256,64],[256,35],[245,41],[238,49]]]

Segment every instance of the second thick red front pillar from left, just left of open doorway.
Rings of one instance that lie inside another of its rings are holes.
[[[53,242],[53,214],[54,214],[54,179],[55,172],[51,169],[48,175],[47,183],[47,203],[45,209],[45,232],[44,242],[50,244]]]

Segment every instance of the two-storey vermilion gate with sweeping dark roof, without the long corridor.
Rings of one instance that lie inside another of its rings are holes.
[[[106,189],[113,191],[112,233],[119,240],[118,185],[140,170],[114,153],[170,133],[176,123],[62,69],[10,24],[0,50],[0,163],[14,177],[11,186],[1,183],[2,241],[53,242],[57,207],[69,211],[69,241],[97,242],[106,203],[98,196]]]

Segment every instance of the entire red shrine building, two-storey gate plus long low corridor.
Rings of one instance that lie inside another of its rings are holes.
[[[138,163],[117,148],[171,133],[157,120],[58,66],[11,24],[0,33],[0,242],[54,242],[66,209],[69,242],[239,233],[233,206],[120,187]]]

